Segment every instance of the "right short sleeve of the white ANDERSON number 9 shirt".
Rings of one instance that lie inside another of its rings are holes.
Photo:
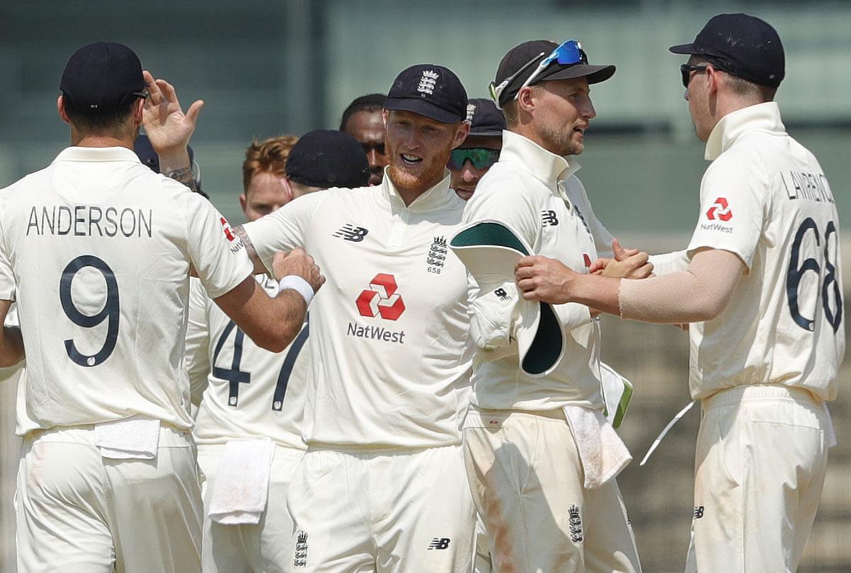
[[[245,245],[213,204],[186,193],[186,249],[204,289],[217,298],[236,288],[254,270]]]

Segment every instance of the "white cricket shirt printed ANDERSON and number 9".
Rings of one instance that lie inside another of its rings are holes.
[[[69,147],[0,191],[0,299],[17,301],[31,421],[191,427],[190,264],[211,296],[251,274],[214,207],[129,149]]]

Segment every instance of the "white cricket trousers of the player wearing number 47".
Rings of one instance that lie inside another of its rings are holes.
[[[198,466],[204,475],[203,573],[282,573],[293,560],[293,519],[287,490],[304,451],[275,444],[266,511],[260,523],[223,525],[208,517],[216,473],[226,444],[198,444]]]

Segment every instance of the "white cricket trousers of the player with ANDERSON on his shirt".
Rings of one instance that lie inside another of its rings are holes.
[[[112,460],[94,427],[27,433],[18,573],[198,573],[201,486],[189,430],[163,424],[153,460]]]

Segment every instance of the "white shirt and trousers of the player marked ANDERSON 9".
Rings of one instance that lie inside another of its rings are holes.
[[[69,147],[0,192],[0,297],[26,348],[20,573],[200,570],[189,268],[223,295],[251,274],[243,250],[123,147]]]

